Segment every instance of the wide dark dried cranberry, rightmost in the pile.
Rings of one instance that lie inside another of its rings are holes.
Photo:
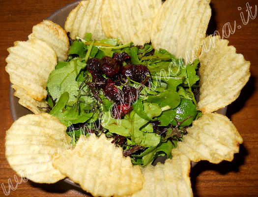
[[[150,75],[149,69],[144,65],[125,65],[121,68],[121,80],[127,81],[127,76],[138,83],[142,83],[147,75]]]

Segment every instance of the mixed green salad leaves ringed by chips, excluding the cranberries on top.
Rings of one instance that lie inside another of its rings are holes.
[[[201,116],[194,92],[199,87],[199,60],[185,66],[183,59],[176,59],[164,49],[154,50],[151,44],[137,47],[133,43],[117,44],[118,38],[95,41],[90,37],[90,33],[85,38],[76,37],[68,59],[58,62],[49,75],[49,113],[68,127],[73,144],[82,134],[105,133],[123,148],[124,156],[130,156],[133,164],[146,166],[159,156],[172,158],[172,148],[193,120]],[[87,69],[89,59],[114,58],[118,53],[130,56],[122,66],[144,65],[150,73],[142,83],[127,76],[125,82],[115,85],[120,91],[128,86],[138,91],[138,98],[121,118],[111,113],[115,102],[105,96],[104,87],[94,86],[93,74]]]

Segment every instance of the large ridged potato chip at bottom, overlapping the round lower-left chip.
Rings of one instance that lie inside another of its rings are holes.
[[[141,169],[111,141],[105,134],[81,135],[74,150],[63,152],[53,165],[93,196],[130,195],[142,188]]]

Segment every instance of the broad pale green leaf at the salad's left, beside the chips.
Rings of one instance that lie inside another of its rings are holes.
[[[85,68],[86,64],[80,60],[73,59],[65,67],[53,70],[48,77],[48,90],[53,99],[59,99],[64,92],[69,93],[68,105],[77,101],[78,89],[81,82],[76,81],[76,77]]]

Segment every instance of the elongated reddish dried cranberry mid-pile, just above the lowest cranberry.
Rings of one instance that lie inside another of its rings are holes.
[[[115,102],[119,102],[120,93],[117,87],[115,87],[115,82],[111,79],[107,79],[106,86],[103,89],[103,94],[105,97],[112,99]]]

